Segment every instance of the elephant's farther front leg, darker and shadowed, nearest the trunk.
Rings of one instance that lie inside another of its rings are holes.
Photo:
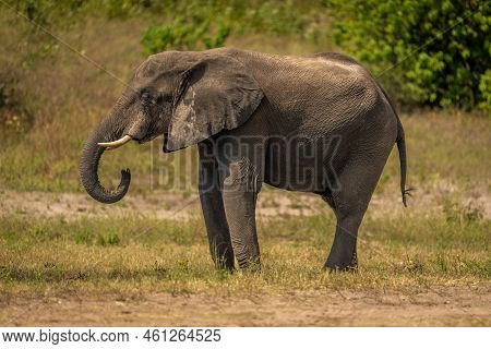
[[[200,200],[212,258],[218,268],[233,269],[233,250],[225,216],[216,161],[200,146]]]

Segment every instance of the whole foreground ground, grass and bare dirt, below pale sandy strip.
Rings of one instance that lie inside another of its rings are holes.
[[[490,228],[462,206],[369,214],[358,273],[328,274],[332,214],[260,219],[262,269],[229,274],[212,265],[201,218],[11,214],[0,219],[0,323],[482,326]]]

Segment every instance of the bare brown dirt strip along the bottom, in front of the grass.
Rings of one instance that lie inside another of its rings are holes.
[[[239,299],[154,293],[134,300],[46,296],[2,304],[0,326],[489,326],[490,291],[480,287]]]

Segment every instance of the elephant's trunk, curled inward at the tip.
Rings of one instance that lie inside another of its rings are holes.
[[[111,128],[113,125],[112,121],[110,117],[94,130],[84,146],[80,160],[80,177],[83,186],[88,195],[104,204],[112,204],[120,201],[127,194],[131,182],[130,169],[121,170],[121,181],[116,190],[109,191],[99,182],[97,169],[100,157],[106,148],[97,143],[119,139],[122,133],[122,130],[115,131],[115,128]]]

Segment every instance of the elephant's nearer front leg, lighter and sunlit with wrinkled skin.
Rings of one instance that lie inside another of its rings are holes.
[[[231,163],[223,181],[223,198],[233,253],[240,268],[260,265],[255,203],[260,190],[255,167],[247,158]]]

